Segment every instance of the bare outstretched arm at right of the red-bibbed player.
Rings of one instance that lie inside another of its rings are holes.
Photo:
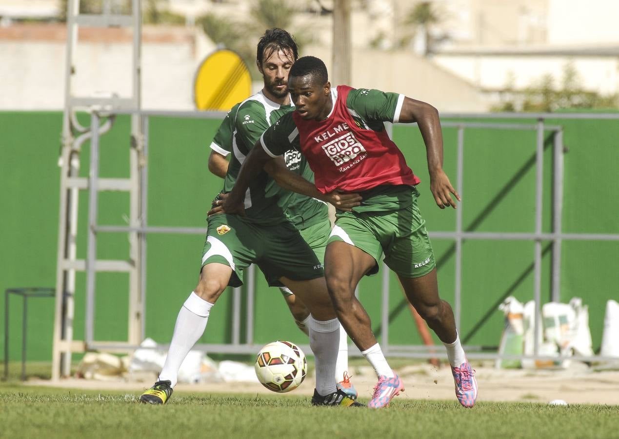
[[[456,209],[454,194],[460,201],[460,196],[449,182],[449,177],[443,171],[443,131],[438,110],[429,103],[404,96],[399,115],[394,115],[394,122],[417,122],[426,146],[428,171],[430,172],[430,191],[436,205],[441,209],[451,206]]]

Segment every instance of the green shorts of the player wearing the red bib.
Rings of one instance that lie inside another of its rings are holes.
[[[339,212],[329,242],[344,241],[370,254],[403,277],[420,277],[436,266],[430,238],[417,207],[417,199],[399,211]]]

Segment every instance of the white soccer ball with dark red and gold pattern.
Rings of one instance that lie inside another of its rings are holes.
[[[254,369],[264,387],[285,393],[303,383],[308,362],[297,345],[289,341],[274,341],[258,352]]]

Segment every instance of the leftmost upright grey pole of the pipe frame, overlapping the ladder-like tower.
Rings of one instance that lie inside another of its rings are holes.
[[[99,115],[92,111],[90,116],[90,174],[89,174],[89,200],[88,200],[88,249],[86,256],[86,321],[85,342],[92,343],[94,340],[95,319],[95,261],[97,259],[97,204],[99,178]]]

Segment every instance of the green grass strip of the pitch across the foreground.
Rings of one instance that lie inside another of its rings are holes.
[[[165,406],[137,393],[0,384],[0,437],[48,438],[610,438],[618,406],[395,399],[391,407],[312,407],[294,395],[175,393]]]

